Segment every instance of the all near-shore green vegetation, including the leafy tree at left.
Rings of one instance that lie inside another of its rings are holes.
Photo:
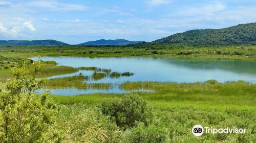
[[[15,66],[14,78],[0,88],[1,142],[256,141],[254,84],[125,83],[127,90],[142,86],[155,92],[51,96],[53,103],[48,93],[34,94],[44,80],[35,80],[40,66],[33,65],[32,73]],[[196,124],[247,130],[196,137]]]

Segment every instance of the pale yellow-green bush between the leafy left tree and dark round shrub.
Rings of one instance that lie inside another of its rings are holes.
[[[45,134],[49,142],[119,142],[121,131],[97,108],[82,103],[61,105],[56,116]]]

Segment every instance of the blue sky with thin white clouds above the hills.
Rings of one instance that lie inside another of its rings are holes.
[[[0,40],[153,41],[250,22],[256,22],[255,0],[0,0]]]

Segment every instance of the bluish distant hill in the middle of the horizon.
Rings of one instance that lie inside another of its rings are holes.
[[[78,45],[126,45],[126,44],[137,44],[143,41],[128,41],[125,39],[116,39],[116,40],[96,40],[96,41],[89,41],[85,43],[80,43]]]

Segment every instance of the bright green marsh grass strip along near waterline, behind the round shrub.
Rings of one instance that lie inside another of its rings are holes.
[[[124,88],[125,87],[125,88]],[[142,82],[126,82],[125,90],[141,89]],[[155,92],[137,92],[156,109],[193,106],[197,109],[236,108],[256,111],[256,85],[247,82],[227,83],[159,83],[143,82],[143,88]],[[123,94],[87,94],[86,96],[53,97],[61,104],[72,102],[100,102],[105,98],[122,97]]]

